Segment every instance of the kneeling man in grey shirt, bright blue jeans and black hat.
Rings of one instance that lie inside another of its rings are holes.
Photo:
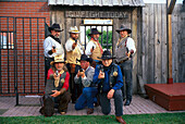
[[[81,70],[74,78],[76,84],[83,84],[84,89],[83,94],[77,99],[75,103],[76,110],[82,110],[87,107],[87,114],[94,113],[94,102],[97,102],[96,96],[98,92],[97,87],[92,86],[92,77],[95,69],[90,66],[90,58],[87,58],[86,54],[81,57]]]

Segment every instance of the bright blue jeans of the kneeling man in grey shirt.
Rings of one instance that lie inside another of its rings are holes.
[[[95,87],[85,87],[83,94],[77,99],[75,103],[75,110],[82,110],[85,107],[94,109],[94,103],[97,102],[98,89]]]

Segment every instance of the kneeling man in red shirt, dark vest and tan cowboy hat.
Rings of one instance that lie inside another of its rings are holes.
[[[47,84],[45,89],[44,107],[40,113],[51,116],[54,113],[54,104],[61,114],[65,114],[67,104],[71,100],[69,89],[70,74],[64,66],[63,55],[55,55],[48,71]]]

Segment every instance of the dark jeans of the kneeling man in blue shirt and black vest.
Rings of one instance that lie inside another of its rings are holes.
[[[110,99],[108,99],[108,92],[99,94],[101,111],[103,114],[108,115],[111,112],[111,103]],[[123,115],[123,97],[122,90],[118,89],[114,91],[114,106],[115,106],[115,115],[121,116]]]

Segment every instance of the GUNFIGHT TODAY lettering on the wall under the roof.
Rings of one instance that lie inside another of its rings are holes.
[[[65,17],[106,17],[127,18],[127,12],[101,12],[101,11],[65,11]]]

